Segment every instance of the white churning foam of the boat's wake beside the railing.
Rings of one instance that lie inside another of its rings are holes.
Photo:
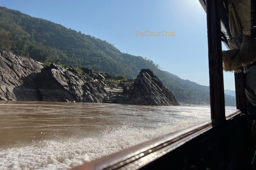
[[[124,125],[98,136],[44,140],[0,150],[0,170],[69,169],[184,127],[145,130]]]

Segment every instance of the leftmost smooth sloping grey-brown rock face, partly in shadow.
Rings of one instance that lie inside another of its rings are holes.
[[[31,58],[0,49],[0,100],[40,100],[35,80],[42,68]]]

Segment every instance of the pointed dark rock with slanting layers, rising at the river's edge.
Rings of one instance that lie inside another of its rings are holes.
[[[152,106],[179,105],[172,92],[163,85],[150,69],[141,69],[133,85],[128,86],[120,83],[119,86],[123,87],[122,93],[108,96],[113,103]]]

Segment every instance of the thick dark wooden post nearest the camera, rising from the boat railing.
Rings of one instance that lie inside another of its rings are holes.
[[[220,0],[207,0],[208,57],[210,76],[211,119],[225,120],[225,100],[221,48]]]

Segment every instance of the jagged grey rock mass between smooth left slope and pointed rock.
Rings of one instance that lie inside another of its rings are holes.
[[[37,84],[43,101],[99,103],[107,95],[101,81],[56,64],[42,69]]]

